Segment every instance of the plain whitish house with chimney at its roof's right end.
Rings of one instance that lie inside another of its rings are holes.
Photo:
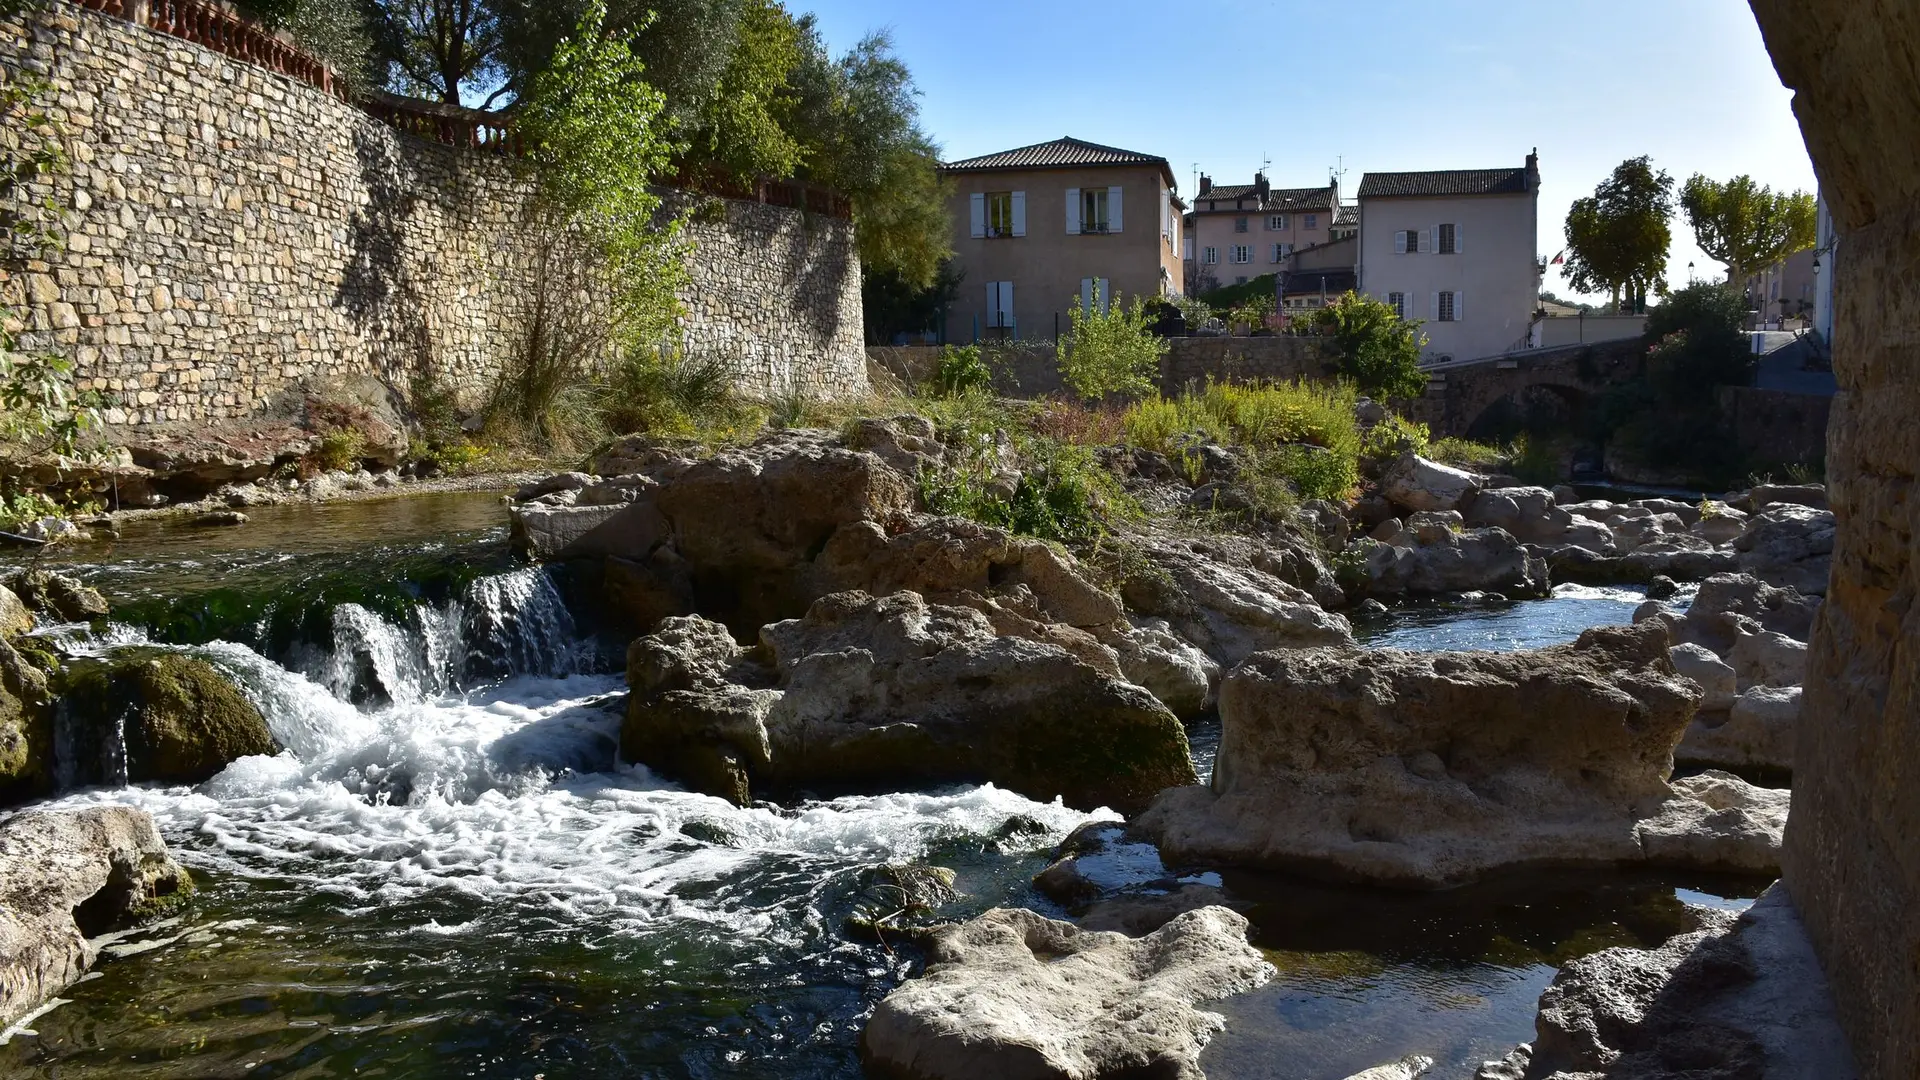
[[[1359,288],[1421,319],[1427,361],[1528,348],[1540,306],[1540,158],[1517,169],[1367,173]]]

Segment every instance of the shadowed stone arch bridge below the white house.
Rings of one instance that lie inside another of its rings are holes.
[[[1413,402],[1413,419],[1434,436],[1465,436],[1488,409],[1536,388],[1578,409],[1640,375],[1642,354],[1640,338],[1622,338],[1436,363],[1425,369],[1427,394]]]

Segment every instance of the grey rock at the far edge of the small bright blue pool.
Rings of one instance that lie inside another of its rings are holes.
[[[1457,517],[1457,515],[1455,515]],[[1361,542],[1367,592],[1375,596],[1440,596],[1501,592],[1546,596],[1548,563],[1503,528],[1452,528],[1452,519],[1413,515],[1415,544]]]

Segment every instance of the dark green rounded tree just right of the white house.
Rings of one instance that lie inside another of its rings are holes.
[[[1576,292],[1611,292],[1634,309],[1647,292],[1667,292],[1674,181],[1651,158],[1628,158],[1592,196],[1567,211],[1567,282]]]

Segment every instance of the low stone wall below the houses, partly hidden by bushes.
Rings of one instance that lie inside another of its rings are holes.
[[[1044,398],[1066,386],[1052,344],[981,344],[993,365],[995,390],[1010,398]],[[870,346],[868,361],[908,382],[925,382],[939,369],[941,346]],[[1160,392],[1179,394],[1208,379],[1331,379],[1332,367],[1309,338],[1167,338],[1160,359]]]

